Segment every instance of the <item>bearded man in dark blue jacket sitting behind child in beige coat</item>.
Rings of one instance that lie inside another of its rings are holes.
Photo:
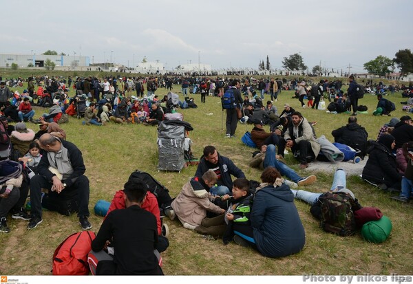
[[[201,178],[207,171],[214,171],[218,176],[217,184],[209,191],[212,195],[230,194],[233,188],[231,175],[237,178],[245,177],[241,169],[228,157],[220,155],[214,146],[204,148],[204,155],[200,158],[195,177]]]

